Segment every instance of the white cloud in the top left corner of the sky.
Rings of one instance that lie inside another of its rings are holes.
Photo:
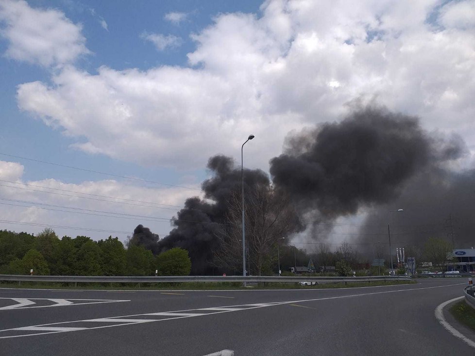
[[[73,63],[89,53],[82,26],[59,10],[34,9],[26,1],[0,2],[1,36],[9,41],[5,55],[42,66]]]

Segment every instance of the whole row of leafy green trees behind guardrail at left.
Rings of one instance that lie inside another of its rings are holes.
[[[0,231],[0,274],[25,275],[189,275],[188,252],[172,248],[156,256],[144,246],[109,236],[59,239],[45,228],[37,236]]]

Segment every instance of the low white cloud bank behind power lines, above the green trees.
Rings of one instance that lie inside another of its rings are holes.
[[[179,206],[188,196],[199,193],[177,187],[141,187],[113,179],[79,184],[57,179],[24,181],[22,172],[21,164],[0,161],[0,229],[37,233],[44,228],[37,225],[79,227],[78,230],[59,227],[54,230],[59,236],[84,234],[96,239],[112,234],[123,241],[127,233],[132,234],[134,228],[142,224],[164,237],[170,231],[169,219],[180,210]],[[199,188],[197,184],[190,186]],[[114,212],[119,218],[104,216],[110,215],[105,212]],[[157,220],[157,217],[163,219]],[[82,227],[104,231],[86,231]]]

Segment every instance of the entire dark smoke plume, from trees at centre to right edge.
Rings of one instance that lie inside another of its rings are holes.
[[[319,223],[364,208],[370,211],[364,225],[371,227],[361,228],[358,242],[384,242],[390,223],[399,245],[418,244],[430,236],[451,238],[452,230],[459,247],[471,245],[475,170],[450,168],[467,152],[460,137],[428,133],[414,116],[368,106],[353,108],[341,122],[289,136],[286,146],[270,161],[272,183],[291,197],[309,236],[327,239],[333,227]],[[228,199],[241,182],[240,169],[229,157],[212,157],[207,167],[212,178],[202,184],[204,199],[187,199],[157,249],[187,249],[194,275],[211,273],[218,248],[216,224],[225,222]],[[245,170],[244,180],[246,190],[271,184],[261,170]],[[399,208],[404,213],[388,213]],[[452,229],[445,221],[449,216]]]

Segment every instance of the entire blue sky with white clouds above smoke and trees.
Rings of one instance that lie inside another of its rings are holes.
[[[178,208],[150,205],[200,194],[210,156],[238,162],[254,133],[246,166],[267,171],[289,132],[355,100],[459,135],[468,154],[453,169],[473,167],[475,1],[349,3],[0,0],[0,153],[192,188],[0,155],[0,199],[17,200],[0,200],[0,228],[163,236]],[[76,196],[52,194],[65,191]]]

